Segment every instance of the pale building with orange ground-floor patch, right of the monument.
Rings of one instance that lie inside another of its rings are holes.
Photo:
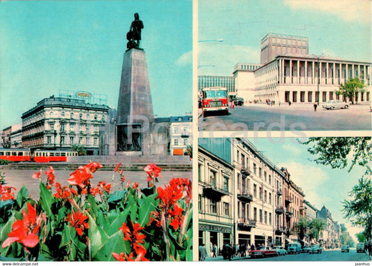
[[[170,117],[170,154],[184,155],[193,143],[193,116]]]

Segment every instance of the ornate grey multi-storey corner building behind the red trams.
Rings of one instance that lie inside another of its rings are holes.
[[[107,105],[51,96],[22,114],[22,145],[35,149],[68,150],[74,144],[99,154],[99,129],[107,122]]]

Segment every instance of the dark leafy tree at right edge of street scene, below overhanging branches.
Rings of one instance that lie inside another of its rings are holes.
[[[372,189],[371,178],[362,177],[350,191],[350,200],[344,200],[342,212],[353,225],[364,228],[364,236],[371,239]]]

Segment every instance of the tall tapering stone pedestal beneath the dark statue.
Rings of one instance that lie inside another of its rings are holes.
[[[117,105],[116,155],[167,154],[168,131],[156,124],[144,50],[125,52]]]

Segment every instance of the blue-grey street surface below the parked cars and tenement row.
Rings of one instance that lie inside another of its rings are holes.
[[[223,260],[222,256],[217,258],[208,257],[205,261],[221,261]],[[300,254],[290,254],[285,256],[271,257],[271,258],[240,258],[235,257],[232,260],[236,261],[259,261],[259,262],[268,262],[268,261],[369,261],[369,256],[366,253],[357,253],[355,249],[350,249],[350,253],[341,253],[340,249],[331,249],[322,251],[320,254],[309,254],[309,253],[300,253]],[[227,260],[226,260],[227,261]]]

